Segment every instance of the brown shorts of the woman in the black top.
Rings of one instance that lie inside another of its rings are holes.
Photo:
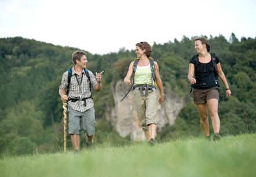
[[[219,99],[218,87],[209,89],[193,89],[194,103],[196,105],[204,104],[209,99]]]

